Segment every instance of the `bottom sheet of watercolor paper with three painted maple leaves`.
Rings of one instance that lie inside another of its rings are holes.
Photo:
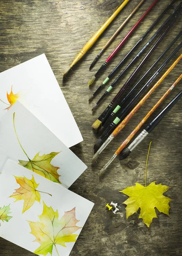
[[[9,160],[0,176],[0,236],[40,256],[69,256],[93,205]]]

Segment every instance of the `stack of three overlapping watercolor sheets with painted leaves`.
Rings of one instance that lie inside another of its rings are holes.
[[[68,256],[93,203],[68,190],[83,139],[45,55],[0,73],[0,236]]]

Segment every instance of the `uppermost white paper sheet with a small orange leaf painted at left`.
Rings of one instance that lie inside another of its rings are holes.
[[[17,99],[67,147],[83,140],[44,54],[0,73],[0,117]]]

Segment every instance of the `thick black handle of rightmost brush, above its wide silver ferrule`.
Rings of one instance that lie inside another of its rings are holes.
[[[178,93],[178,95],[171,100],[171,102],[152,120],[152,122],[150,122],[149,125],[147,125],[147,127],[145,128],[145,131],[147,131],[147,133],[150,133],[155,127],[156,125],[159,124],[159,122],[162,120],[162,118],[171,110],[171,108],[173,108],[173,106],[179,101],[179,99],[181,99],[182,97],[182,90],[180,93]]]

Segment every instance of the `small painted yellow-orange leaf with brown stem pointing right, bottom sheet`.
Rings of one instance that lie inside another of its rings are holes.
[[[32,180],[29,180],[26,177],[15,177],[15,179],[16,179],[16,182],[20,185],[20,188],[15,189],[16,192],[14,192],[13,195],[10,196],[10,198],[15,198],[16,199],[15,202],[24,200],[23,211],[22,211],[23,213],[27,211],[30,207],[32,207],[35,201],[38,201],[40,203],[39,192],[41,191],[37,190],[39,184],[35,182],[35,178],[33,175],[32,175]],[[45,193],[45,192],[42,192],[42,193]]]

